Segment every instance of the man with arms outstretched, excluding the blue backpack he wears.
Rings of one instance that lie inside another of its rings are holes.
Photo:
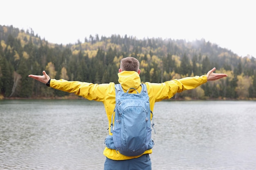
[[[149,83],[146,82],[148,90],[150,109],[153,112],[155,102],[159,102],[163,99],[173,97],[176,93],[184,90],[194,89],[207,81],[215,81],[220,78],[226,77],[227,74],[213,73],[216,68],[210,70],[207,75],[186,77],[179,80],[166,81],[164,83]],[[130,88],[137,89],[141,92],[141,80],[139,77],[139,61],[133,57],[126,57],[121,60],[119,69],[119,83],[126,92]],[[108,125],[111,124],[112,113],[115,108],[115,83],[106,84],[93,84],[79,81],[66,81],[63,79],[56,80],[50,79],[50,77],[43,71],[42,76],[29,75],[37,81],[45,83],[47,86],[54,89],[62,90],[64,92],[74,93],[79,96],[83,96],[88,100],[96,100],[103,102],[106,114],[108,117]],[[136,90],[129,90],[129,93],[137,93]],[[110,129],[109,129],[109,134]],[[105,170],[151,170],[151,161],[149,154],[152,153],[152,149],[146,150],[142,155],[128,157],[122,155],[117,150],[105,148],[103,154],[106,156],[104,164]]]

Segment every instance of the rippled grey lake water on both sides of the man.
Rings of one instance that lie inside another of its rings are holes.
[[[155,105],[153,170],[256,169],[255,101]],[[101,170],[101,102],[0,100],[0,169]]]

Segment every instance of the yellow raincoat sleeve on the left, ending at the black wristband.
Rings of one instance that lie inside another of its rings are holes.
[[[88,100],[104,101],[109,92],[110,84],[93,84],[80,81],[51,79],[50,87],[64,92],[74,93]]]

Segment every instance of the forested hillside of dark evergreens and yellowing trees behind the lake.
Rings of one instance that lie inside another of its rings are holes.
[[[65,36],[65,35],[63,35]],[[227,78],[176,94],[179,99],[256,99],[256,60],[239,57],[204,39],[187,42],[136,37],[85,37],[76,44],[52,44],[33,30],[0,25],[0,98],[54,98],[70,94],[47,88],[29,78],[51,78],[91,83],[118,83],[120,60],[140,61],[141,81],[160,83],[175,78],[206,74],[213,67]]]

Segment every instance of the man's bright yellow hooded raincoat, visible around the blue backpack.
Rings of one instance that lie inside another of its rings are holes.
[[[141,91],[141,80],[139,74],[134,71],[122,71],[118,73],[119,83],[122,85],[124,92],[129,88],[133,87],[137,89],[138,92]],[[164,83],[149,83],[146,82],[148,89],[148,96],[150,102],[150,109],[153,112],[155,102],[159,102],[163,99],[168,99],[173,97],[176,93],[182,92],[184,90],[194,89],[207,82],[207,76],[195,76],[186,77],[179,80],[166,81]],[[66,80],[56,80],[52,79],[50,82],[50,87],[58,89],[64,92],[74,93],[78,96],[87,98],[88,100],[96,100],[103,102],[105,111],[108,117],[108,125],[111,123],[111,116],[115,108],[115,83],[106,84],[93,84],[79,81],[66,81]],[[129,91],[131,93],[136,93],[136,91]],[[110,129],[109,129],[109,134]],[[128,157],[117,153],[118,151],[105,148],[103,154],[109,159],[113,160],[125,160],[137,158],[139,156]],[[144,154],[152,153],[152,149],[146,150]]]

